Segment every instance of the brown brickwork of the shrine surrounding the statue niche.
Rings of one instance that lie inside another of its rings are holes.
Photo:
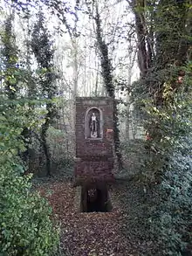
[[[102,114],[101,138],[86,138],[86,114],[91,107]],[[111,181],[113,179],[113,100],[110,98],[76,98],[76,182]]]

